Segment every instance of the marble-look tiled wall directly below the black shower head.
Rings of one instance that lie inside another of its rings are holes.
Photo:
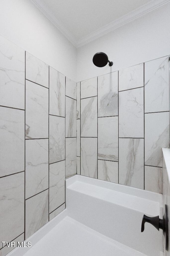
[[[162,193],[169,56],[77,83],[77,173]]]

